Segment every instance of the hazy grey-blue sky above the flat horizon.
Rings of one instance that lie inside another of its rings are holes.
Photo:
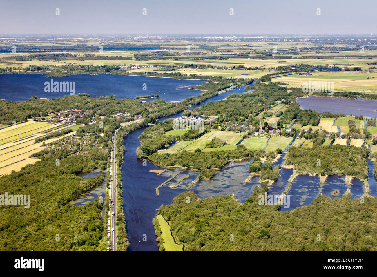
[[[0,0],[0,34],[370,34],[376,11],[377,0]]]

